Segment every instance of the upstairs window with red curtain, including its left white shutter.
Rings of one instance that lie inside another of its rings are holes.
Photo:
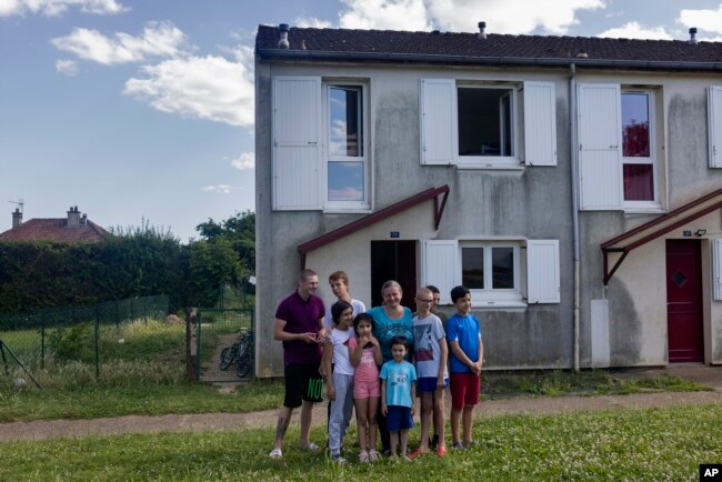
[[[579,84],[580,208],[659,210],[654,91]]]

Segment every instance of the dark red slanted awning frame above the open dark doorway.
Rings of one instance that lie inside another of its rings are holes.
[[[439,201],[439,197],[443,194],[443,198],[441,201]],[[397,202],[395,204],[391,204],[389,207],[385,207],[383,209],[380,209],[379,211],[364,215],[363,218],[359,218],[355,221],[352,221],[348,224],[342,225],[341,228],[334,229],[333,231],[329,231],[324,234],[321,234],[318,238],[313,238],[310,241],[307,241],[302,244],[299,244],[297,247],[299,253],[301,254],[301,265],[305,265],[305,254],[319,249],[325,244],[330,244],[333,241],[337,241],[341,238],[344,238],[349,234],[352,234],[363,228],[367,228],[369,225],[372,225],[381,220],[384,220],[391,215],[398,214],[400,212],[403,212],[410,208],[413,208],[417,204],[420,204],[422,202],[429,201],[433,199],[433,223],[434,223],[434,229],[439,229],[439,223],[441,222],[441,217],[443,215],[443,210],[447,207],[447,198],[449,197],[449,184],[444,184],[440,188],[429,188],[424,191],[421,191],[410,198],[407,198],[402,201]]]

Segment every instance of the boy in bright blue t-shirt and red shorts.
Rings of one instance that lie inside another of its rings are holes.
[[[451,290],[451,301],[457,305],[457,313],[447,322],[447,340],[451,347],[451,436],[454,449],[464,449],[473,443],[471,421],[474,405],[479,404],[484,345],[481,342],[481,324],[471,314],[469,289],[455,287]],[[459,439],[460,418],[463,443]]]

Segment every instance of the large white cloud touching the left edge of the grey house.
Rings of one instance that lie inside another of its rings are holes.
[[[190,57],[146,66],[144,79],[129,79],[123,93],[144,99],[163,112],[252,127],[253,51],[242,47],[235,59]]]

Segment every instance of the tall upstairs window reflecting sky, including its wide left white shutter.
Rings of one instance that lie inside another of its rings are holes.
[[[273,79],[274,210],[370,209],[365,84]]]

